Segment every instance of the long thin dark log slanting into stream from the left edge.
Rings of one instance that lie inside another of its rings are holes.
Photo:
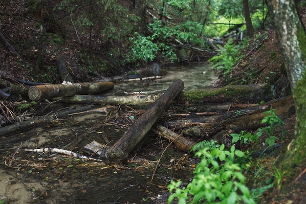
[[[51,123],[55,119],[65,118],[68,117],[70,114],[88,111],[92,108],[93,105],[77,107],[75,109],[66,110],[61,113],[53,113],[51,115],[25,120],[23,122],[17,122],[12,125],[7,125],[0,128],[0,136],[8,136],[10,134],[20,133],[24,130],[37,127],[39,125]]]

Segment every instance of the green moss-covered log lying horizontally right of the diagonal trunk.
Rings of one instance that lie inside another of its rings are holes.
[[[184,91],[183,97],[194,103],[224,103],[245,100],[271,100],[272,93],[263,84],[229,85],[221,88]]]

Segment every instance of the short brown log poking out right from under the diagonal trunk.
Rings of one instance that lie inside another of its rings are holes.
[[[196,144],[195,141],[183,137],[182,135],[178,135],[175,132],[169,130],[168,128],[165,128],[160,124],[154,125],[153,128],[151,128],[151,130],[154,133],[166,139],[169,139],[170,141],[173,141],[175,143],[176,148],[184,152],[189,152],[192,149],[192,147]]]

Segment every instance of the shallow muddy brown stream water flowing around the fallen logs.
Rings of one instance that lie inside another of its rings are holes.
[[[205,72],[203,74],[203,72]],[[166,90],[175,79],[184,81],[184,90],[210,86],[217,76],[208,65],[169,68],[152,84],[126,82],[115,85],[109,94],[123,91]],[[43,105],[42,105],[43,106]],[[57,103],[45,111],[59,110]],[[127,109],[126,120],[133,122],[135,110]],[[0,195],[10,204],[165,204],[169,182],[192,178],[193,159],[169,141],[149,132],[125,163],[107,159],[92,161],[69,155],[25,152],[24,149],[59,148],[88,155],[84,146],[93,140],[112,145],[127,131],[124,120],[105,122],[118,110],[104,109],[70,115],[26,132],[2,136],[0,141]],[[161,157],[162,156],[162,157]],[[160,159],[161,158],[161,159]]]

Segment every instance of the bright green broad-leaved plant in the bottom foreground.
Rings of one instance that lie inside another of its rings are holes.
[[[245,178],[241,173],[235,157],[245,157],[233,145],[230,150],[224,150],[224,144],[211,152],[208,148],[196,153],[201,161],[197,164],[195,178],[185,189],[180,188],[181,181],[171,181],[168,188],[174,192],[168,199],[170,204],[178,198],[179,204],[192,201],[193,204],[238,204],[242,200],[246,204],[255,204],[249,189],[244,185]],[[218,161],[224,162],[220,165]]]

